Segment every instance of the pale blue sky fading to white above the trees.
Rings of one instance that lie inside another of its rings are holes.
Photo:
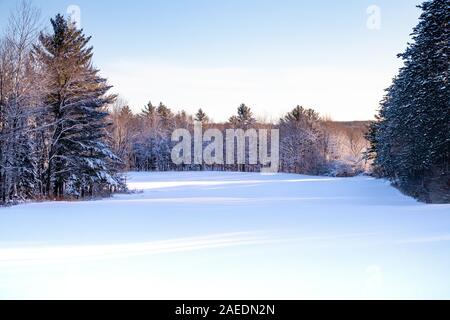
[[[16,2],[0,0],[0,26]],[[216,120],[241,102],[268,119],[297,104],[336,120],[373,118],[420,2],[34,0],[45,20],[81,9],[95,64],[134,110],[164,101]],[[367,27],[370,5],[381,9],[379,30]]]

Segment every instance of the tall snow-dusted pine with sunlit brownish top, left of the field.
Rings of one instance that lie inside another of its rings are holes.
[[[46,193],[83,197],[118,187],[118,158],[106,144],[106,107],[115,97],[92,66],[91,38],[61,15],[51,24],[53,33],[42,33],[34,48],[47,75]]]

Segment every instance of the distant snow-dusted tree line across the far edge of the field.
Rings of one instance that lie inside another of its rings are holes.
[[[368,148],[365,139],[368,123],[333,122],[301,106],[295,107],[277,123],[271,123],[258,120],[251,108],[242,104],[227,122],[218,123],[203,109],[191,115],[186,111],[174,112],[164,103],[153,105],[149,102],[139,114],[134,114],[126,101],[118,99],[111,108],[110,117],[113,151],[126,169],[132,171],[261,170],[261,164],[250,164],[249,141],[245,146],[246,164],[174,164],[171,151],[178,141],[172,141],[172,133],[182,128],[193,136],[195,122],[201,122],[204,130],[218,129],[222,133],[228,129],[265,129],[268,132],[279,129],[281,172],[353,176],[370,167],[364,157]],[[225,148],[225,136],[221,145]]]

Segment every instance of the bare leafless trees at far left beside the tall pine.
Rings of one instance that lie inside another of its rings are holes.
[[[33,193],[35,158],[30,132],[40,103],[30,56],[39,30],[39,10],[20,2],[0,44],[0,184],[3,202]]]

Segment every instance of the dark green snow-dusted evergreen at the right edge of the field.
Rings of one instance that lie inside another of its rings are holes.
[[[377,172],[428,202],[450,195],[450,1],[423,3],[369,139]]]

